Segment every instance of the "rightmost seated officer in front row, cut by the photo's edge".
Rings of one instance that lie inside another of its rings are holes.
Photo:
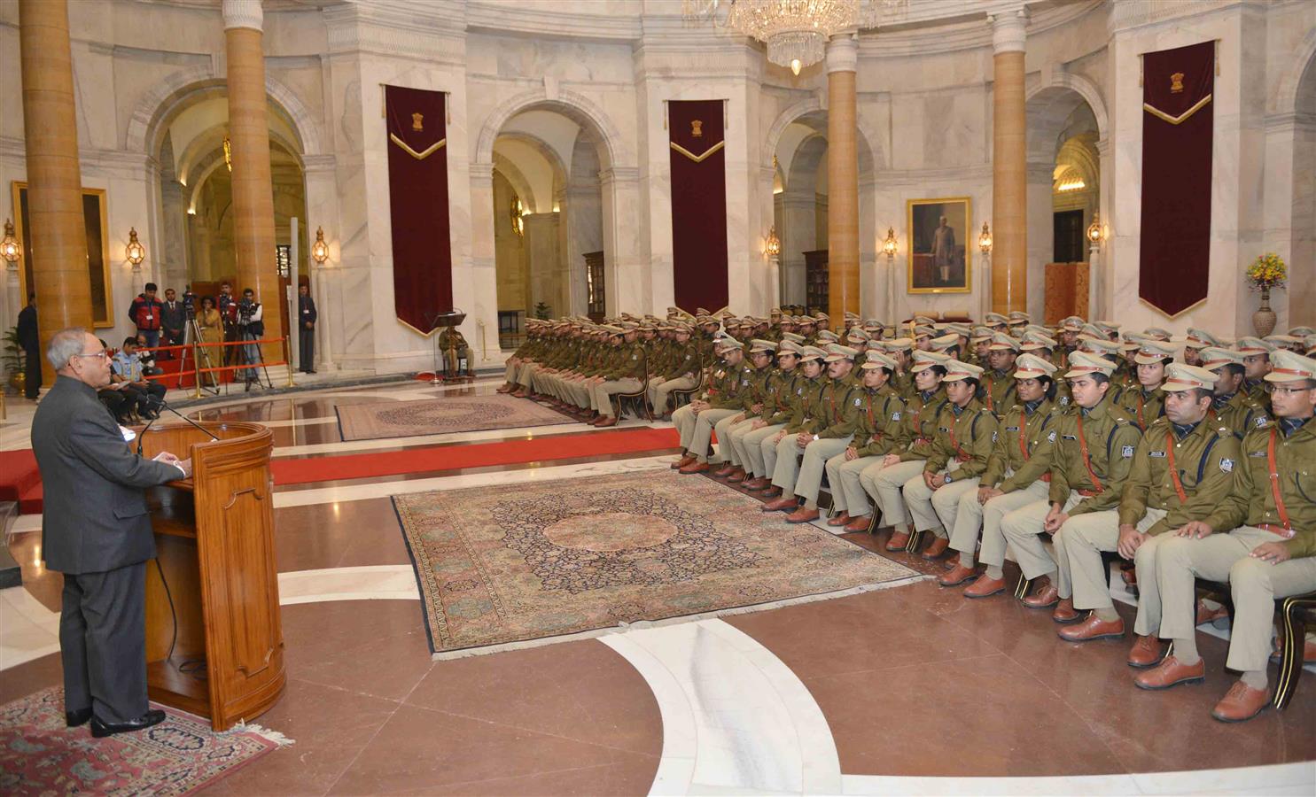
[[[1159,635],[1174,642],[1174,655],[1138,676],[1138,685],[1205,677],[1195,639],[1194,579],[1228,580],[1234,622],[1225,667],[1242,677],[1211,712],[1221,722],[1252,719],[1270,702],[1275,598],[1316,591],[1316,359],[1277,351],[1265,380],[1274,385],[1275,420],[1244,438],[1233,489],[1157,552]]]

